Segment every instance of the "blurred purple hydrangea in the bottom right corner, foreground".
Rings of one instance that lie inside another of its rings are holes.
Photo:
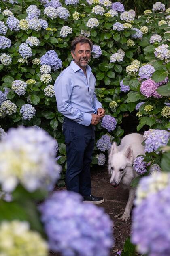
[[[136,206],[132,220],[132,243],[141,254],[170,255],[170,187]]]

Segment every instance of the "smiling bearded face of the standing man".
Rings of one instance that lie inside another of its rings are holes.
[[[91,56],[89,43],[77,43],[76,49],[74,50],[74,52],[71,52],[71,54],[74,59],[74,62],[82,69],[85,69],[85,67],[90,61]]]

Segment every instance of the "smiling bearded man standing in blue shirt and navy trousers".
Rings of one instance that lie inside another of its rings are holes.
[[[90,163],[94,149],[94,126],[105,110],[94,92],[96,79],[90,61],[93,44],[76,37],[71,44],[73,60],[55,81],[57,108],[64,115],[67,170],[66,187],[80,193],[85,202],[101,204],[104,198],[91,195]]]

